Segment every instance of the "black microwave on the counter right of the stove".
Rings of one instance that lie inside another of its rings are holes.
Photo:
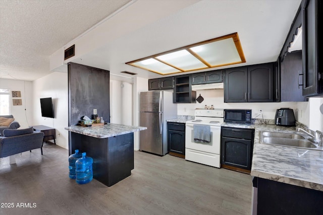
[[[251,123],[251,110],[224,109],[224,121],[232,123]]]

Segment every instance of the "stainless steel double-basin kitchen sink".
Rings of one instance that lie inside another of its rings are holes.
[[[310,140],[296,133],[262,131],[260,132],[260,142],[262,144],[281,145],[306,149],[317,148]]]

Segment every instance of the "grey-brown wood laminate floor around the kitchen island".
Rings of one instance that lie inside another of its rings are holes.
[[[130,177],[106,187],[68,176],[68,150],[45,144],[0,159],[0,214],[250,214],[251,176],[135,152]],[[8,207],[8,206],[13,207]]]

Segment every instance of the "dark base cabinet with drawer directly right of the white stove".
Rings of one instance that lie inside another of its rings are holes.
[[[254,129],[221,127],[221,166],[250,173]]]

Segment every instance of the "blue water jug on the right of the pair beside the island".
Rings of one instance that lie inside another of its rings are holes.
[[[76,166],[76,182],[78,184],[86,184],[93,179],[92,169],[93,159],[86,157],[86,153],[82,153],[82,158],[79,158],[75,162]]]

